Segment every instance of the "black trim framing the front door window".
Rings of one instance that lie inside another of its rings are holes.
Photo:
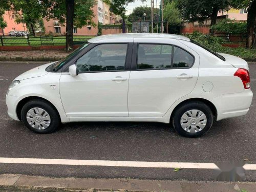
[[[129,58],[131,54],[128,54],[129,51],[131,51],[131,47],[132,47],[132,43],[131,42],[101,42],[98,44],[95,44],[95,46],[93,46],[90,50],[94,49],[97,46],[100,45],[106,45],[106,44],[126,44],[127,48],[126,48],[126,55],[125,55],[125,61],[124,61],[124,70],[108,70],[108,71],[85,71],[85,72],[78,72],[79,74],[83,74],[83,73],[104,73],[104,72],[122,72],[122,71],[130,71],[130,66],[131,66],[131,59]],[[90,50],[88,50],[87,52],[89,52]],[[80,59],[83,55],[87,54],[87,52],[83,53],[82,55],[80,55],[78,58],[76,58],[75,60],[75,65],[78,59]],[[129,65],[129,67],[128,67]]]

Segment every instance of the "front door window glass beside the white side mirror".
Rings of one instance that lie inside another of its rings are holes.
[[[126,52],[127,44],[98,45],[76,61],[78,72],[124,70]]]

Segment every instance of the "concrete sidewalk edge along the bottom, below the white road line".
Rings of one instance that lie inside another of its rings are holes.
[[[0,175],[0,191],[256,191],[256,183]]]

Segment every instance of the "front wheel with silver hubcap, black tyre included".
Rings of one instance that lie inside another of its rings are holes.
[[[33,132],[46,134],[54,132],[60,125],[56,109],[44,100],[30,100],[22,108],[24,124]]]

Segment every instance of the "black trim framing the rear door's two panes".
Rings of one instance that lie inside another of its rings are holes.
[[[185,50],[184,48],[174,45],[174,44],[159,44],[157,42],[135,42],[134,44],[137,44],[134,46],[134,51],[133,51],[133,59],[132,59],[132,66],[131,66],[131,71],[152,71],[152,70],[173,70],[173,69],[190,69],[194,66],[196,57],[189,51]],[[166,68],[166,69],[137,69],[137,62],[138,62],[138,51],[139,51],[139,44],[147,44],[147,45],[169,45],[172,46],[172,58],[171,58],[171,63],[170,63],[170,68]],[[184,50],[185,52],[189,53],[191,56],[193,56],[193,63],[190,67],[179,67],[179,68],[174,68],[173,67],[173,58],[174,58],[174,47],[178,47],[182,50]],[[135,57],[135,59],[134,59]]]

